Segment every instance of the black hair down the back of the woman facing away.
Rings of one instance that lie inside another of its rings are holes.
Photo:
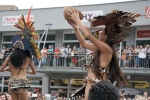
[[[29,50],[23,51],[19,48],[15,48],[10,55],[10,61],[14,67],[19,68],[24,65],[27,57],[31,58],[31,53]]]

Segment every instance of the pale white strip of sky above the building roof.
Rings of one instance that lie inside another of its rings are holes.
[[[135,0],[0,0],[0,5],[16,5],[19,9],[51,8],[89,4],[103,4]]]

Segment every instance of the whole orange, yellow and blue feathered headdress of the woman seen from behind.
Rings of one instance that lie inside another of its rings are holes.
[[[35,31],[34,22],[30,21],[31,9],[32,7],[30,8],[28,12],[27,19],[25,19],[24,15],[22,14],[21,17],[18,19],[18,21],[15,23],[14,26],[22,30],[22,33],[20,35],[15,35],[12,38],[12,43],[15,44],[15,42],[17,42],[17,44],[20,45],[21,44],[20,42],[22,42],[24,45],[23,50],[31,50],[32,54],[35,57],[41,59],[41,53],[34,41],[34,39],[38,40],[38,34]],[[19,45],[16,45],[16,46],[19,46]]]

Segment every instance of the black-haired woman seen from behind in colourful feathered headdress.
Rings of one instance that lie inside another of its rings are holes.
[[[31,11],[31,10],[30,10]],[[30,13],[28,14],[28,17]],[[41,58],[41,54],[34,42],[36,37],[33,29],[33,22],[27,19],[27,22],[22,15],[15,27],[22,30],[22,33],[15,35],[12,38],[14,46],[13,52],[8,56],[3,63],[0,71],[10,71],[11,78],[8,82],[8,89],[12,100],[28,100],[28,88],[30,88],[30,81],[27,79],[27,74],[36,74],[36,70],[31,59],[32,54]],[[33,34],[34,33],[34,34]],[[9,64],[9,67],[6,67]],[[31,71],[28,70],[28,66]]]

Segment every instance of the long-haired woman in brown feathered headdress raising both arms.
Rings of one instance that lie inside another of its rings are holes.
[[[130,26],[136,21],[136,18],[138,18],[140,14],[113,10],[105,16],[94,17],[92,20],[89,20],[91,27],[105,25],[105,27],[99,28],[94,35],[90,32],[89,28],[82,23],[77,10],[74,8],[70,9],[68,15],[70,15],[68,23],[73,27],[80,44],[94,52],[90,65],[84,65],[88,70],[87,77],[83,80],[86,85],[77,90],[72,97],[82,95],[84,96],[83,100],[91,100],[88,99],[89,90],[92,85],[100,81],[106,81],[112,84],[116,83],[116,87],[126,86],[127,82],[119,67],[115,45],[119,44],[129,35]],[[78,27],[84,37],[88,38],[91,43],[85,41]],[[83,88],[85,92],[83,92]]]

